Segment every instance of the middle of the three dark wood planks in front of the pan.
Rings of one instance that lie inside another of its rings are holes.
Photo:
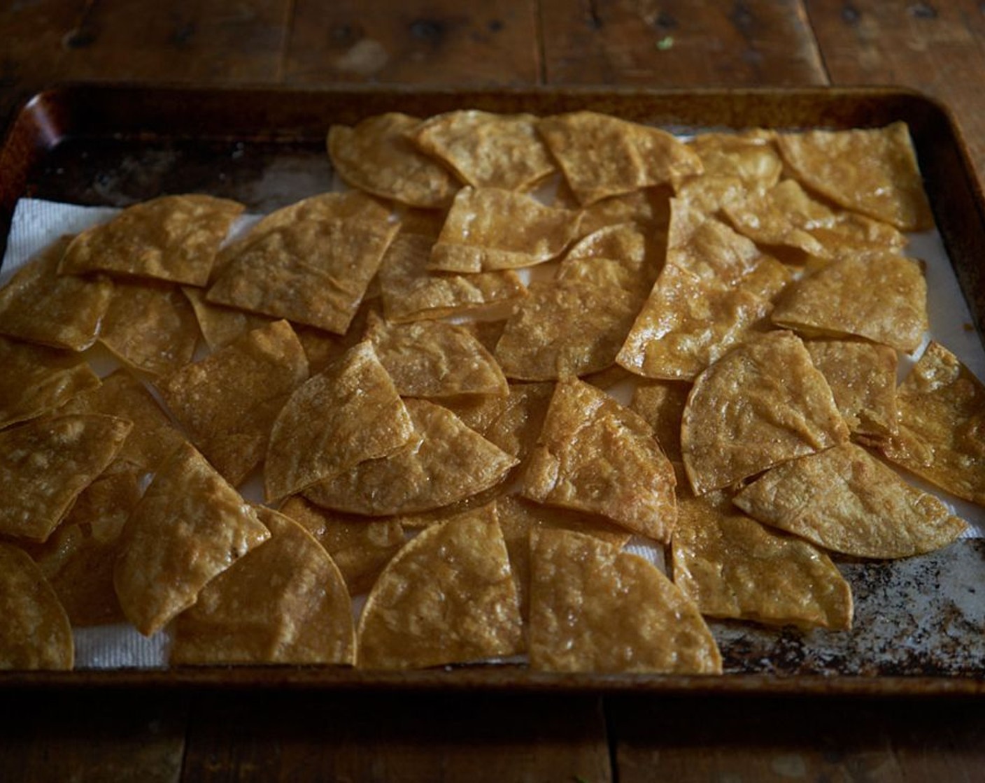
[[[189,722],[184,783],[611,780],[593,696],[214,693]]]

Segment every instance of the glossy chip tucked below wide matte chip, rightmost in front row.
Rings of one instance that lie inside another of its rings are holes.
[[[674,583],[702,615],[851,627],[851,587],[817,547],[763,527],[722,492],[682,498],[678,508]]]

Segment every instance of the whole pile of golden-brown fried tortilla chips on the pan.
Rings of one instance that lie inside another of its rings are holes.
[[[900,123],[327,141],[344,192],[244,235],[164,196],[0,290],[0,668],[126,621],[174,665],[721,673],[706,618],[846,631],[839,558],[964,532],[910,474],[985,502],[981,381],[931,342],[896,383]]]

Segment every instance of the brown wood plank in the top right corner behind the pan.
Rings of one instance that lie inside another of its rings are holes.
[[[807,8],[833,84],[892,84],[942,100],[985,182],[981,3],[808,0]]]

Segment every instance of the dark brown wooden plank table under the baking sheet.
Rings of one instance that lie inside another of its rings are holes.
[[[475,5],[475,7],[474,7]],[[895,85],[985,175],[985,4],[19,0],[0,120],[58,81]],[[973,699],[187,688],[0,695],[5,780],[981,780]]]

